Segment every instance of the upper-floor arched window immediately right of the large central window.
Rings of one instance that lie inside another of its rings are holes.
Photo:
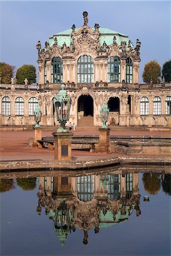
[[[118,56],[108,59],[107,81],[120,82],[120,59]]]

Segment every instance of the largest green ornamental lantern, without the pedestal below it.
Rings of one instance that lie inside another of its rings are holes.
[[[65,84],[61,84],[61,89],[59,91],[59,94],[57,94],[57,96],[53,99],[56,119],[60,123],[59,129],[57,129],[58,133],[68,132],[65,125],[66,125],[66,122],[69,120],[70,105],[72,100],[70,97],[68,98],[67,92],[64,88],[65,88]]]

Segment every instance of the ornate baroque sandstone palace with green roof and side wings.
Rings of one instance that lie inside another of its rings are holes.
[[[70,122],[101,126],[103,101],[110,126],[171,126],[171,84],[139,84],[140,41],[133,46],[127,35],[84,24],[37,43],[39,83],[0,84],[1,126],[32,126],[37,103],[43,112],[40,125],[55,126],[53,98],[62,82],[72,98]]]

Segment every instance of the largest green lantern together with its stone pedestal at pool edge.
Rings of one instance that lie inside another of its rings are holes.
[[[52,133],[55,138],[55,160],[71,160],[73,133],[69,133],[65,127],[66,122],[69,120],[71,98],[67,97],[67,92],[64,88],[65,84],[62,84],[59,94],[53,99],[56,119],[60,123],[57,132]]]

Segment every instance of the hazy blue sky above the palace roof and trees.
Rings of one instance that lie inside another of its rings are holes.
[[[129,36],[140,48],[140,81],[144,65],[157,60],[162,65],[171,57],[170,1],[0,1],[0,61],[37,68],[38,40],[41,47],[49,36],[83,26],[83,11],[88,26],[107,27]]]

